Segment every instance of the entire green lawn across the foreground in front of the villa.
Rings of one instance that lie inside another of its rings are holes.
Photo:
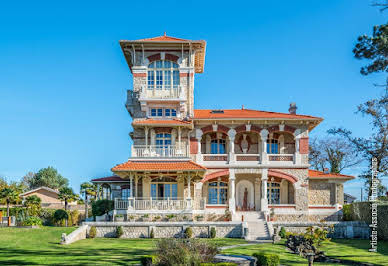
[[[74,228],[43,227],[40,229],[0,228],[0,265],[127,265],[139,263],[154,247],[152,239],[85,239],[71,245],[60,245],[61,233]],[[246,243],[242,239],[214,239],[220,246]],[[379,242],[379,253],[368,252],[367,240],[333,240],[323,249],[339,259],[388,265],[388,242]],[[283,265],[307,265],[306,260],[286,251],[283,243],[254,244],[223,250],[227,254],[251,255],[255,252],[279,254]],[[328,265],[315,263],[314,265]]]

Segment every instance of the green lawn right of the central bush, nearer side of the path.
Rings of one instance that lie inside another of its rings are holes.
[[[345,260],[345,264],[351,265],[352,262],[373,263],[373,265],[388,265],[388,242],[379,241],[378,252],[368,252],[369,240],[354,239],[335,239],[322,246],[326,255]],[[256,244],[251,246],[242,246],[223,250],[225,254],[244,254],[252,255],[255,252],[268,252],[278,254],[282,265],[308,265],[307,260],[287,251],[284,241],[278,244]],[[327,263],[314,263],[314,265],[332,265]]]

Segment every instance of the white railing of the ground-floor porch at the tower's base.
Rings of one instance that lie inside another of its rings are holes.
[[[192,209],[192,199],[184,198],[115,198],[116,210],[158,210],[174,211]],[[205,208],[206,201],[201,198],[194,207],[199,210]]]

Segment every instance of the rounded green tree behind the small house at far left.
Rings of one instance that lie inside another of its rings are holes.
[[[28,174],[27,174],[28,175]],[[26,178],[29,184],[29,188],[49,187],[52,189],[60,189],[67,187],[69,181],[60,175],[57,169],[49,166],[47,168],[40,169],[32,178]]]

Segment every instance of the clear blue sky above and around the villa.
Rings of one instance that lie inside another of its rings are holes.
[[[354,59],[357,36],[386,22],[371,1],[4,1],[0,9],[0,175],[54,166],[77,191],[127,160],[132,79],[118,41],[162,35],[207,41],[196,108],[298,113],[370,132],[356,106],[375,97]],[[359,168],[345,173],[357,174]],[[384,180],[388,185],[388,180]],[[362,184],[345,191],[359,195]]]

